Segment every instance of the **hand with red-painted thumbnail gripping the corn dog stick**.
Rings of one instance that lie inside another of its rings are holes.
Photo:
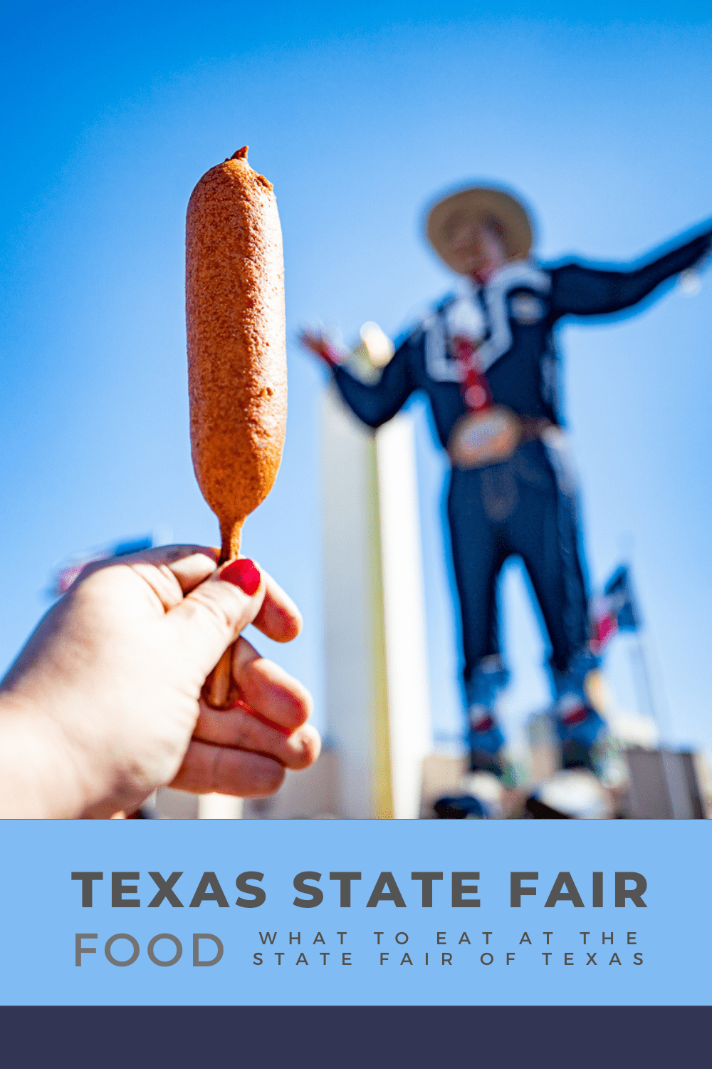
[[[164,546],[90,564],[47,613],[0,686],[2,816],[110,817],[167,784],[269,794],[285,766],[316,759],[308,693],[246,639],[233,656],[244,700],[228,712],[201,700],[248,623],[276,641],[301,628],[265,572],[248,594],[217,559]]]

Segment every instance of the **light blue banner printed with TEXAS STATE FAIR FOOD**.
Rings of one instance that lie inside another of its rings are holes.
[[[3,821],[0,847],[3,1004],[710,1003],[709,821]]]

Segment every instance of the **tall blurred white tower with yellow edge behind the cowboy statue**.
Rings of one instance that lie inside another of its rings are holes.
[[[431,748],[412,419],[323,402],[327,715],[343,817],[415,818]]]

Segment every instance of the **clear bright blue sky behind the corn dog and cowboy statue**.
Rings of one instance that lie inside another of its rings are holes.
[[[9,663],[53,563],[154,527],[213,542],[187,421],[184,224],[190,190],[250,144],[285,241],[289,424],[246,527],[306,625],[274,650],[322,716],[318,405],[299,325],[397,334],[450,285],[424,204],[469,179],[520,189],[539,251],[629,261],[709,218],[712,20],[706,4],[9,3],[3,59],[4,611]],[[670,734],[712,744],[712,276],[640,316],[570,325],[566,414],[591,579],[634,545]],[[426,590],[437,716],[457,722],[442,563],[442,460],[421,402]],[[541,641],[506,580],[511,726],[544,698]],[[633,700],[624,644],[611,656]]]

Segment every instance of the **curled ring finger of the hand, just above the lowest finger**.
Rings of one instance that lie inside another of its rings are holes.
[[[258,719],[238,706],[231,710],[210,709],[201,702],[201,713],[193,731],[193,739],[227,746],[232,749],[247,749],[264,757],[270,757],[287,769],[306,769],[319,756],[321,740],[311,724],[287,735],[273,724]]]

